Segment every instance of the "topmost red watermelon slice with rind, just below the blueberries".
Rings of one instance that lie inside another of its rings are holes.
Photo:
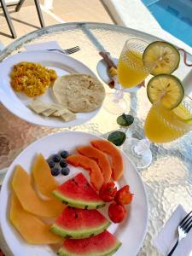
[[[104,201],[91,188],[81,172],[61,184],[53,191],[53,194],[70,207],[96,209],[105,206]]]

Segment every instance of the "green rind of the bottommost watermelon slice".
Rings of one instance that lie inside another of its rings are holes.
[[[102,241],[101,241],[102,242]],[[102,251],[102,252],[92,252],[92,253],[71,253],[68,252],[64,247],[61,247],[57,253],[57,255],[59,256],[111,256],[113,255],[115,252],[117,252],[117,250],[119,249],[119,247],[121,246],[121,242],[120,241],[116,241],[116,243],[114,244],[113,247],[108,248],[108,250],[106,251]]]

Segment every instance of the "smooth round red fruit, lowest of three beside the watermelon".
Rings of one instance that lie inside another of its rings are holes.
[[[113,202],[108,207],[108,216],[113,221],[113,223],[119,223],[125,218],[126,210],[122,205]]]

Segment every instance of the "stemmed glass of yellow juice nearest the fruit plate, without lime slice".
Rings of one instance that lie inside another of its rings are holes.
[[[192,131],[192,99],[185,96],[177,108],[168,110],[160,102],[152,105],[144,124],[146,139],[131,138],[125,141],[124,150],[129,154],[137,168],[150,165],[152,154],[149,149],[152,143],[170,143]]]

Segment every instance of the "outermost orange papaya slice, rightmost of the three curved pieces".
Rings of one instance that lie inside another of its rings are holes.
[[[123,158],[119,152],[119,149],[114,146],[113,143],[105,140],[95,140],[92,141],[91,144],[95,148],[110,155],[112,159],[112,177],[113,180],[118,180],[123,174]]]

